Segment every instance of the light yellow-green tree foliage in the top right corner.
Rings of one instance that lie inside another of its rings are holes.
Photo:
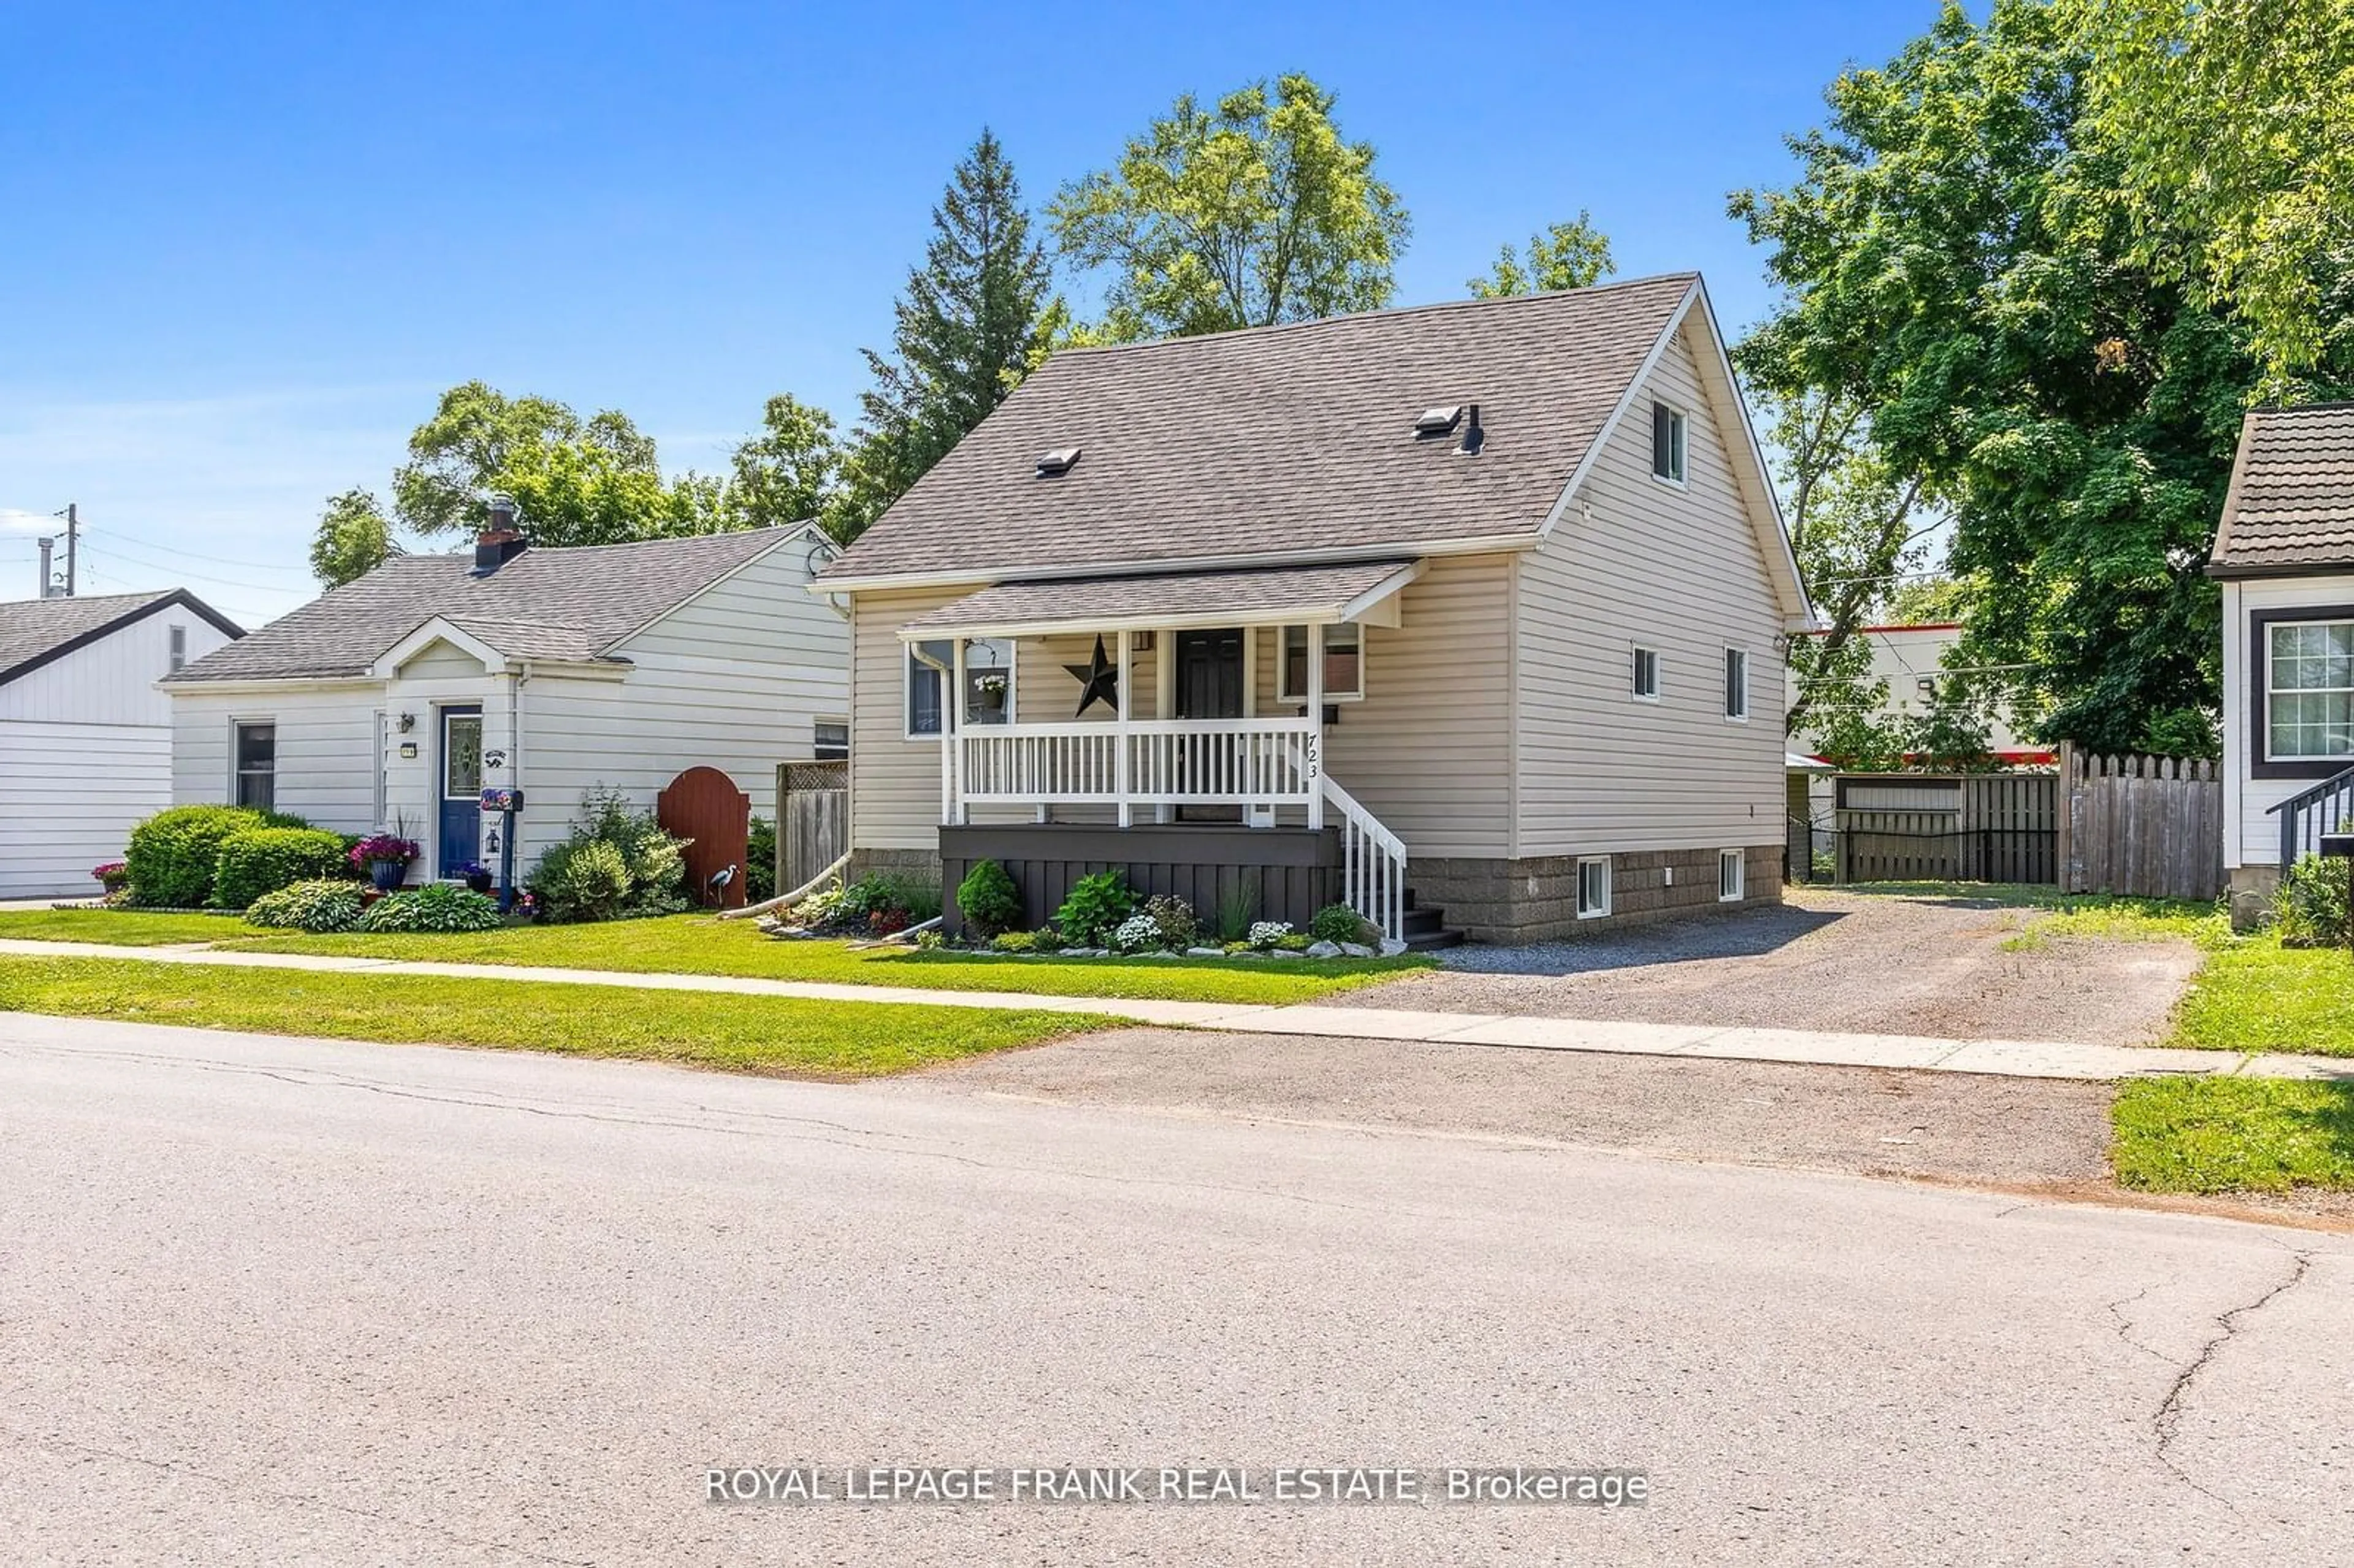
[[[2269,396],[2354,337],[2354,5],[2069,0],[2140,257],[2232,308]]]

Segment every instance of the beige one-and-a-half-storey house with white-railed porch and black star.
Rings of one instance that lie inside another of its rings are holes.
[[[1810,614],[1690,273],[1062,353],[812,591],[862,869],[1417,944],[1780,897]]]

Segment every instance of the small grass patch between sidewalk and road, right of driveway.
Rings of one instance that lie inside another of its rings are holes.
[[[2142,1078],[2109,1109],[2121,1187],[2354,1187],[2354,1083]]]

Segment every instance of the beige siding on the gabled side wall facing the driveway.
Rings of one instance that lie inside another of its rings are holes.
[[[1681,490],[1650,471],[1653,398],[1688,419]],[[1782,612],[1735,487],[1737,452],[1685,327],[1554,534],[1518,560],[1516,857],[1780,836]],[[1636,645],[1660,655],[1660,702],[1631,695]],[[1725,647],[1749,655],[1747,723],[1725,718]]]

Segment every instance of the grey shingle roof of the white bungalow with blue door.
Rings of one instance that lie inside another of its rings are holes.
[[[245,640],[205,655],[172,676],[172,685],[363,676],[433,617],[447,617],[518,659],[591,659],[796,532],[758,527],[530,549],[490,577],[473,574],[471,549],[395,556]]]

